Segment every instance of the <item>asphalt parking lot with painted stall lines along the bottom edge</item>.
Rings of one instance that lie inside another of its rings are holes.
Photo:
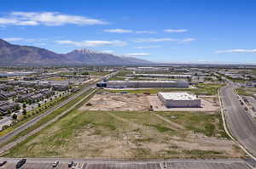
[[[214,162],[214,161],[175,161],[175,162],[118,162],[118,163],[74,163],[76,169],[250,169],[251,167],[247,166],[245,162],[237,161],[237,162]],[[5,166],[0,167],[6,169],[15,169],[15,163],[7,163]],[[52,163],[39,163],[39,162],[27,162],[22,169],[67,169],[67,162],[59,163],[58,166],[53,167]]]

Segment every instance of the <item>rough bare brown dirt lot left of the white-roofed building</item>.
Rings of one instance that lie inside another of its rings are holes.
[[[129,93],[96,94],[88,103],[79,110],[144,111],[150,106],[146,95]]]

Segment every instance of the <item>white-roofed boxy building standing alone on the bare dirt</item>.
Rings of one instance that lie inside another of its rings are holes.
[[[189,93],[158,93],[158,98],[167,108],[201,107],[201,99]]]

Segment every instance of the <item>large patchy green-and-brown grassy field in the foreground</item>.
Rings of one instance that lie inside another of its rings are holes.
[[[172,119],[172,116],[176,116]],[[169,121],[169,122],[168,122]],[[5,156],[73,158],[224,158],[241,157],[236,142],[208,137],[218,117],[189,112],[75,110]],[[191,128],[190,128],[191,127]]]

